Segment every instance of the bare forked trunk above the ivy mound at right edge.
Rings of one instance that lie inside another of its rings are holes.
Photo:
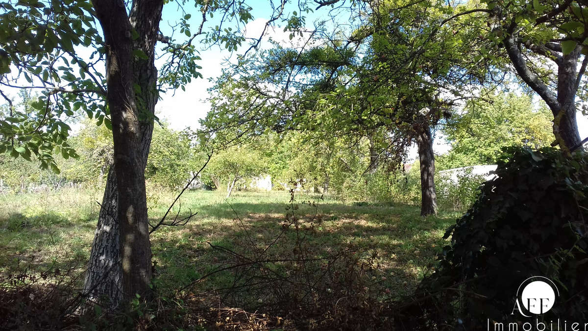
[[[519,77],[529,85],[546,102],[553,114],[553,133],[557,144],[563,149],[569,149],[580,143],[580,135],[576,123],[576,92],[579,79],[582,77],[582,67],[577,72],[577,61],[582,47],[577,47],[567,55],[557,55],[554,62],[557,64],[557,95],[555,95],[537,75],[535,75],[523,57],[520,42],[514,34],[516,25],[510,28],[509,37],[504,44],[510,61],[515,67]]]

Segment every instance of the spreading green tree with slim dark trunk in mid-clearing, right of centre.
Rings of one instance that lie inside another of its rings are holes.
[[[210,116],[211,127],[240,126],[243,134],[255,134],[262,124],[352,141],[382,130],[387,147],[380,153],[373,148],[372,154],[396,155],[398,168],[416,141],[422,214],[436,213],[431,131],[456,100],[471,97],[465,87],[483,82],[487,71],[487,61],[473,59],[479,49],[466,42],[480,28],[461,17],[462,8],[445,2],[433,7],[424,2],[372,4],[370,14],[361,15],[368,21],[346,43],[340,40],[342,31],[321,31],[315,32],[320,38],[310,34],[308,48],[277,46],[258,58],[243,59],[246,64],[239,71],[219,80],[213,100],[220,107]],[[442,19],[453,12],[457,14],[451,19]],[[325,41],[325,34],[332,37]],[[246,95],[238,106],[223,103],[237,100],[237,94]]]

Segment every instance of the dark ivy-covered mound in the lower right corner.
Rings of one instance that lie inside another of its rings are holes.
[[[419,289],[426,298],[419,316],[438,329],[486,330],[487,319],[490,329],[493,320],[524,323],[518,311],[511,315],[517,288],[544,276],[560,297],[531,320],[588,323],[588,155],[507,148],[496,174],[447,230],[451,243]]]

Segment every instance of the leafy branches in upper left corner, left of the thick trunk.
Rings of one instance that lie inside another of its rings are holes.
[[[0,115],[0,153],[20,154],[26,160],[34,155],[42,168],[58,172],[53,155],[75,157],[66,143],[70,128],[64,119],[81,111],[90,118],[108,115],[101,103],[103,75],[93,67],[104,48],[92,5],[2,1],[0,31],[0,84],[41,91],[24,100],[24,109],[11,105]],[[92,48],[92,55],[79,58],[77,47]],[[12,102],[5,94],[2,97]]]

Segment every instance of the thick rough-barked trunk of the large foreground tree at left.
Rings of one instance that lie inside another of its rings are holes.
[[[105,38],[108,34],[107,43],[115,42],[118,46],[111,48],[111,52],[107,54],[108,102],[115,136],[115,164],[123,163],[129,168],[122,168],[125,172],[121,171],[121,174],[126,177],[123,180],[117,180],[115,167],[109,170],[84,287],[89,297],[106,298],[109,301],[108,307],[114,309],[125,297],[128,298],[133,293],[151,292],[151,245],[146,216],[144,173],[158,98],[157,71],[153,59],[163,2],[135,1],[129,18],[126,17],[124,6],[118,6],[112,1],[98,2],[95,5]],[[113,18],[115,15],[116,18]],[[140,36],[135,41],[129,38],[129,27],[134,28]],[[141,49],[148,59],[133,59],[133,47]],[[120,56],[118,52],[121,52]],[[115,56],[114,61],[110,61],[112,56]],[[127,67],[122,67],[121,60]],[[110,75],[111,72],[114,77]],[[119,79],[113,81],[116,77]],[[126,82],[126,86],[121,86],[121,82],[125,84],[123,81]],[[122,108],[116,108],[118,113],[113,112],[111,97],[115,98],[113,102],[121,100],[116,100],[116,97],[111,95],[111,85],[115,90],[118,89],[119,93],[122,92],[122,99],[128,102],[123,103]],[[139,93],[133,95],[136,85],[139,86]],[[128,107],[129,105],[134,107]],[[125,115],[120,112],[121,109],[132,111]],[[118,147],[121,148],[116,148],[117,141]],[[128,150],[130,153],[127,153],[125,148],[131,148]],[[126,188],[122,192],[124,201],[119,200],[121,194],[118,194],[118,187]],[[125,224],[122,224],[123,229],[119,228],[118,220],[125,221]],[[123,236],[120,236],[120,230],[123,231]],[[123,262],[125,269],[121,267]]]

